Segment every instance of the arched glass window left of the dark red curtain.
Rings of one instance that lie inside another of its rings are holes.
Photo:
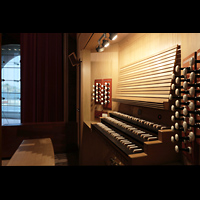
[[[20,45],[1,46],[2,125],[21,123]]]

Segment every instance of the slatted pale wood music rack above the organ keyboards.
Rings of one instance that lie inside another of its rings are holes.
[[[180,51],[176,45],[149,58],[121,67],[117,97],[144,102],[167,102],[172,72],[175,63],[178,62],[177,55],[180,56]]]

